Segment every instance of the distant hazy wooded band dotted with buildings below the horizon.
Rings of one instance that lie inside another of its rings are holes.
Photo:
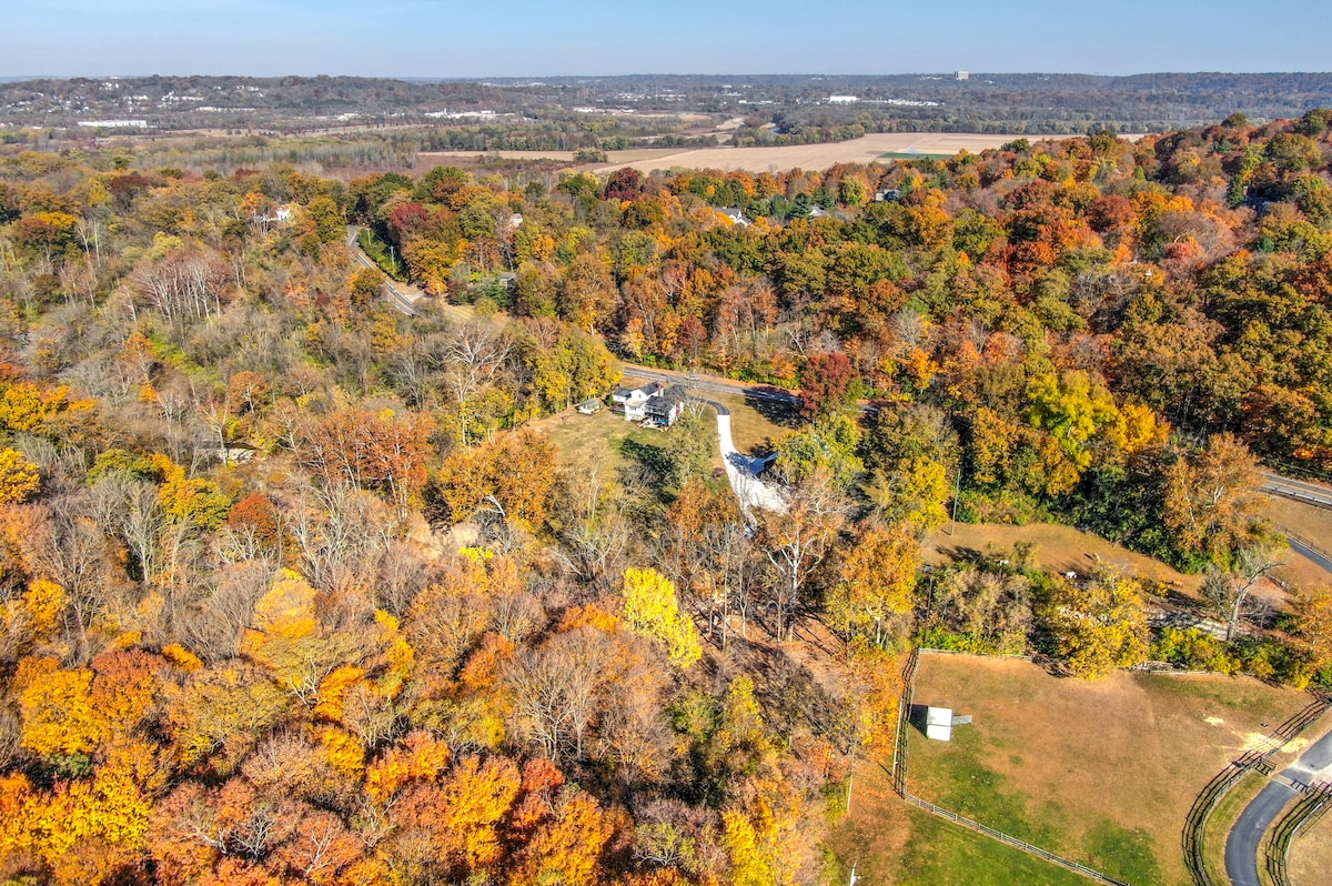
[[[830,104],[831,96],[856,101]],[[326,129],[436,124],[478,149],[521,148],[529,127],[575,147],[678,139],[690,115],[747,117],[735,144],[802,144],[866,132],[1162,132],[1245,113],[1299,117],[1332,103],[1328,73],[615,76],[406,81],[372,77],[107,77],[0,81],[0,123],[72,128],[143,120],[161,129]],[[470,117],[470,119],[469,119]],[[496,129],[498,124],[498,129]],[[775,128],[763,128],[775,124]],[[476,145],[482,125],[486,144]],[[113,129],[113,127],[112,127]],[[83,132],[87,132],[84,129]],[[21,137],[20,133],[4,133]],[[599,143],[599,144],[598,144]],[[452,147],[461,147],[453,144]],[[534,145],[551,149],[547,144]],[[565,148],[561,148],[565,149]]]

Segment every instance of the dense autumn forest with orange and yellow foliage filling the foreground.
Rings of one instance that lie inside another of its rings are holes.
[[[1325,109],[763,175],[0,157],[0,877],[822,882],[911,644],[1332,683],[1332,590],[1247,605],[1259,460],[1332,468],[1329,163]],[[558,452],[621,360],[798,390],[783,506],[697,412]],[[1227,638],[927,572],[950,508],[1201,572]]]

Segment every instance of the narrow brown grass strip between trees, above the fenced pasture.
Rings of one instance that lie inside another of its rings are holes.
[[[1008,526],[998,524],[958,524],[956,534],[950,534],[950,524],[931,532],[923,542],[924,561],[943,564],[970,556],[970,552],[1011,550],[1018,542],[1036,546],[1036,562],[1047,572],[1076,572],[1086,574],[1096,561],[1116,566],[1142,578],[1160,581],[1173,589],[1197,596],[1201,576],[1187,576],[1159,560],[1138,554],[1092,533],[1078,532],[1058,524],[1030,524]]]

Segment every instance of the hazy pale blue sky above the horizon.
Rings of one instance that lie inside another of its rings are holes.
[[[1325,0],[0,0],[0,76],[1328,71]]]

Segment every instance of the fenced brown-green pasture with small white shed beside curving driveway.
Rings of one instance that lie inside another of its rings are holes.
[[[975,722],[951,743],[911,730],[912,793],[1135,886],[1184,886],[1195,795],[1307,697],[1252,678],[1078,681],[1020,660],[923,656],[915,702]]]

